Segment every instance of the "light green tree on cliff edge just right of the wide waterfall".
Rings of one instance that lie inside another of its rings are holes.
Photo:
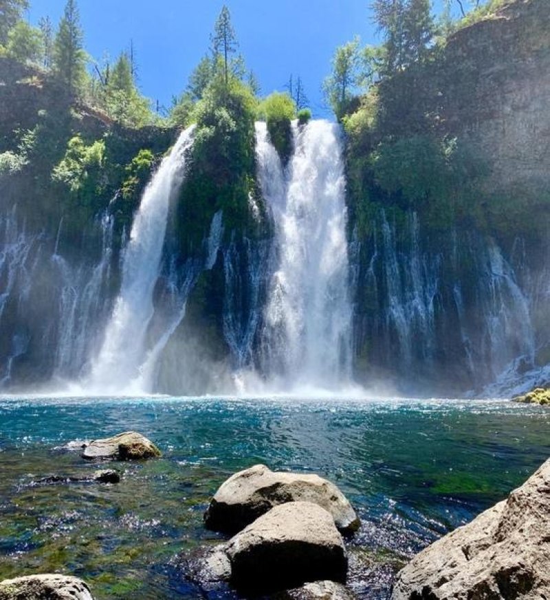
[[[356,36],[353,41],[336,48],[332,74],[323,83],[325,97],[338,120],[346,114],[360,82],[360,66],[360,41]]]

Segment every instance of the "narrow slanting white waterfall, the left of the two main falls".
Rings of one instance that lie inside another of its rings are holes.
[[[87,387],[120,392],[140,376],[146,361],[146,333],[153,317],[170,200],[184,179],[186,152],[194,127],[181,133],[146,187],[124,249],[122,286]]]

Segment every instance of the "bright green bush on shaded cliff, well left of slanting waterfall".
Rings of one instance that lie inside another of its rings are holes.
[[[52,171],[52,180],[65,184],[73,194],[96,192],[103,167],[105,142],[97,140],[87,146],[80,136],[67,143],[65,156]]]

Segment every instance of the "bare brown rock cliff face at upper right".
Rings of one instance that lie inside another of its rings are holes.
[[[498,189],[550,191],[550,10],[519,0],[445,49],[443,118],[478,144]]]

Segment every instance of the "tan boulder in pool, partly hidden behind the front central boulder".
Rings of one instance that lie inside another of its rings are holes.
[[[318,475],[270,471],[265,464],[235,473],[215,493],[204,515],[214,531],[236,533],[285,502],[314,502],[331,513],[342,533],[351,533],[360,521],[347,498]]]

